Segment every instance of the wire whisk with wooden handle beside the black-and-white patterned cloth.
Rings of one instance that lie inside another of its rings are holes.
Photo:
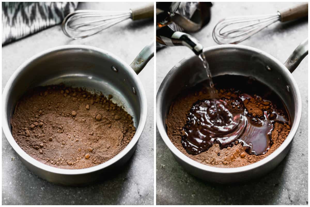
[[[77,10],[64,18],[62,31],[70,38],[82,39],[127,19],[140,20],[153,16],[153,3],[129,11]]]

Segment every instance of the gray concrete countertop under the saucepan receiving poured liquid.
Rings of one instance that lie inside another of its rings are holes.
[[[222,18],[236,15],[260,15],[295,5],[292,2],[215,2],[211,20],[193,34],[203,46],[213,46],[212,29]],[[240,43],[268,52],[281,62],[308,38],[308,21],[272,26]],[[163,48],[157,52],[157,90],[168,71],[184,57],[193,56],[186,47]],[[293,145],[285,159],[263,178],[246,184],[215,185],[193,177],[173,158],[158,131],[156,137],[157,205],[307,205],[308,204],[308,56],[294,71],[302,98],[302,117]],[[162,168],[162,165],[165,165]]]

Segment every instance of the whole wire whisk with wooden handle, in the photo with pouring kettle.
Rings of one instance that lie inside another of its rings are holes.
[[[286,22],[308,16],[308,3],[270,15],[233,16],[220,20],[212,37],[218,44],[237,44],[277,21]]]

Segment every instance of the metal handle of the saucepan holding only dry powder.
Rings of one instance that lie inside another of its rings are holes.
[[[130,67],[135,71],[136,74],[139,74],[153,56],[154,42],[152,41],[147,46],[145,46],[143,50],[136,56],[135,60],[130,64]]]

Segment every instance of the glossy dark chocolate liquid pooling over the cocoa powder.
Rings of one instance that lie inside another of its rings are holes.
[[[290,125],[281,99],[263,83],[247,77],[224,75],[215,77],[214,83],[215,88],[228,89],[238,97],[216,98],[216,107],[214,99],[194,103],[183,127],[185,133],[181,142],[184,149],[188,154],[197,155],[214,143],[219,143],[221,148],[241,143],[248,154],[265,154],[272,145],[274,123]],[[245,107],[244,101],[251,98],[262,99],[268,106],[262,110],[263,115],[253,114]]]

